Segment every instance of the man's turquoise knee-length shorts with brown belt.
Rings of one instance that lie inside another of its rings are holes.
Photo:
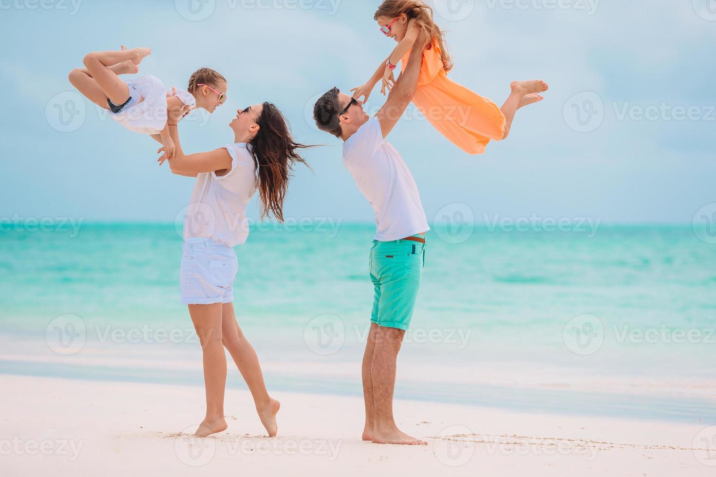
[[[373,240],[370,278],[375,294],[371,323],[407,330],[420,290],[424,264],[424,243],[412,240]]]

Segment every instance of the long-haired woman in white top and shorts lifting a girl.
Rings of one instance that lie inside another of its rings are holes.
[[[233,311],[233,279],[238,269],[233,247],[246,242],[246,205],[257,188],[261,217],[284,219],[282,207],[291,171],[297,162],[308,165],[296,151],[308,146],[294,142],[283,114],[268,102],[239,109],[229,124],[233,144],[212,152],[185,155],[176,118],[168,123],[176,147],[169,161],[172,172],[197,178],[185,215],[180,276],[182,302],[189,306],[203,349],[206,417],[195,436],[226,430],[226,346],[251,390],[261,423],[274,437],[280,403],[269,396],[256,352],[241,333]],[[166,154],[160,164],[165,159]]]

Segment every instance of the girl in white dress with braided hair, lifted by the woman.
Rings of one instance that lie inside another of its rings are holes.
[[[84,56],[85,68],[73,69],[69,82],[97,106],[109,109],[110,116],[122,126],[140,134],[149,134],[160,142],[173,159],[175,146],[169,135],[169,117],[179,121],[192,109],[203,108],[210,114],[226,101],[226,79],[211,68],[200,68],[190,79],[188,91],[181,89],[167,97],[160,80],[152,75],[124,82],[120,74],[139,72],[138,65],[152,50],[94,51]]]

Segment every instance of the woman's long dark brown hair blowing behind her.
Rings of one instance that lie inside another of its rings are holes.
[[[265,102],[258,119],[260,128],[251,139],[251,155],[256,162],[258,172],[258,197],[261,219],[274,215],[279,222],[284,221],[284,199],[293,177],[294,165],[305,164],[311,169],[298,149],[306,149],[291,136],[289,122],[279,111],[276,104]]]

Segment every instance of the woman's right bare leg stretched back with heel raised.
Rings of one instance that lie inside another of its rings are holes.
[[[258,356],[253,350],[251,343],[248,343],[246,337],[241,332],[236,316],[233,311],[233,303],[223,305],[222,312],[222,333],[223,345],[231,354],[233,362],[241,371],[243,379],[248,385],[248,390],[253,396],[253,403],[256,405],[256,412],[261,418],[263,427],[269,433],[269,437],[276,436],[278,426],[276,425],[276,413],[279,412],[281,403],[275,399],[271,399],[269,391],[266,390],[266,383],[263,382],[263,373],[261,365],[258,363]]]

